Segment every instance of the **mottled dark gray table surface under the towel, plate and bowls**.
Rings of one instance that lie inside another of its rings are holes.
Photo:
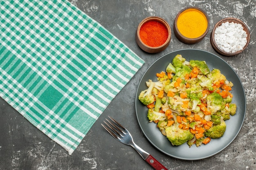
[[[70,0],[139,55],[145,64],[113,99],[78,148],[68,155],[61,146],[29,123],[0,98],[0,170],[151,170],[132,147],[119,143],[101,126],[110,115],[132,132],[137,145],[170,170],[255,170],[256,169],[256,1],[255,0]],[[141,20],[155,15],[173,29],[176,14],[188,6],[207,12],[210,29],[199,43],[188,45],[172,33],[170,45],[161,53],[148,54],[135,42]],[[243,20],[251,33],[247,49],[233,57],[216,53],[210,44],[213,25],[226,17]],[[157,150],[146,139],[135,114],[135,95],[146,69],[159,57],[178,49],[202,49],[229,63],[245,88],[246,117],[234,141],[218,154],[198,160],[175,159]]]

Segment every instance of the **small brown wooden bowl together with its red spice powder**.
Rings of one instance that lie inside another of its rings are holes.
[[[150,16],[139,23],[136,42],[148,53],[159,53],[166,49],[171,40],[171,27],[163,18]]]

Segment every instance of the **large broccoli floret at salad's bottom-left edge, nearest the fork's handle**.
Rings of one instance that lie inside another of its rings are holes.
[[[193,139],[194,135],[189,130],[183,130],[175,123],[165,128],[166,137],[172,145],[179,146]]]

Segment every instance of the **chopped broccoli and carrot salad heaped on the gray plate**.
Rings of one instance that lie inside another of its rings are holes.
[[[236,113],[232,82],[219,69],[209,70],[205,61],[186,61],[176,55],[165,71],[149,79],[139,100],[172,145],[208,144],[226,130],[225,120]]]

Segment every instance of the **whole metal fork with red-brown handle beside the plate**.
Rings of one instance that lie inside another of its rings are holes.
[[[141,149],[139,146],[137,146],[130,134],[130,132],[124,128],[121,124],[119,124],[115,119],[108,116],[110,120],[106,119],[104,123],[107,125],[101,124],[115,139],[117,139],[119,142],[132,146],[141,157],[150,164],[155,170],[168,170],[165,168],[159,161],[157,161],[154,157],[152,157],[148,152]]]

